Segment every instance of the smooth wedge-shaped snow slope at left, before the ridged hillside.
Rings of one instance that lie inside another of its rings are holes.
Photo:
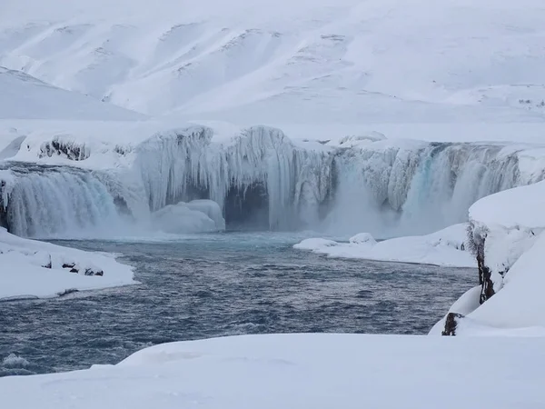
[[[0,119],[138,120],[145,115],[104,104],[0,66]],[[11,125],[13,126],[13,124]]]

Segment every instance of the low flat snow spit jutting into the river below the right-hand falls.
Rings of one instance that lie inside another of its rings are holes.
[[[349,243],[310,238],[293,248],[338,258],[474,267],[475,260],[466,251],[466,228],[467,224],[454,224],[433,234],[398,237],[378,243],[367,233],[353,236]]]

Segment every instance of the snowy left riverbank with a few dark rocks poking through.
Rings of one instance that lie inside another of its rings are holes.
[[[23,239],[0,227],[0,300],[134,283],[133,267],[113,256]]]

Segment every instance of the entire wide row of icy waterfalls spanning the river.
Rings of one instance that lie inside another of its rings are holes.
[[[266,126],[228,136],[189,125],[114,145],[65,134],[18,140],[26,149],[11,159],[36,155],[40,165],[4,165],[0,219],[23,236],[104,233],[114,225],[149,224],[167,205],[212,200],[227,226],[381,238],[464,222],[481,197],[543,178],[531,146],[377,135],[305,145]],[[104,165],[103,157],[116,162]],[[217,214],[197,210],[222,229]]]

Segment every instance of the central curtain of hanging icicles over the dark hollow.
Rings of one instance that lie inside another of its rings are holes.
[[[265,208],[270,229],[300,225],[301,213],[317,220],[331,187],[329,155],[296,148],[282,131],[263,126],[244,130],[228,145],[212,145],[212,137],[211,129],[195,126],[155,135],[139,147],[135,168],[151,210],[207,198],[229,222],[234,207],[248,200]],[[227,205],[230,198],[235,203]]]

